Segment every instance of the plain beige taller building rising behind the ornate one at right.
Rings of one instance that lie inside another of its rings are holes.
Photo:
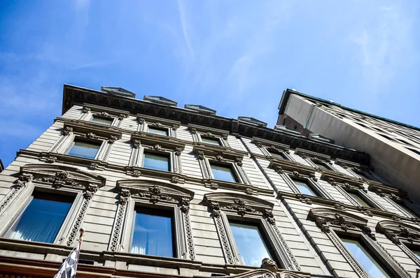
[[[290,89],[279,104],[278,125],[317,133],[337,145],[370,154],[370,167],[381,182],[420,200],[420,129],[346,108]]]

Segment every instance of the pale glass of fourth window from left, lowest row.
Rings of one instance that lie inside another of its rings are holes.
[[[342,242],[344,243],[344,246],[350,251],[350,253],[353,254],[358,263],[363,266],[370,277],[391,277],[387,273],[388,270],[383,268],[381,264],[378,263],[376,258],[374,258],[358,240],[342,238]]]

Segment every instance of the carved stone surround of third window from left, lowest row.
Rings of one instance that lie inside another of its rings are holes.
[[[281,263],[281,268],[301,270],[286,244],[286,240],[276,226],[276,220],[272,213],[274,204],[241,193],[207,193],[203,200],[204,203],[207,203],[211,217],[216,224],[226,263],[233,265],[240,263],[239,251],[229,225],[229,219],[232,219],[258,224],[269,241],[266,243],[274,250],[276,261]]]

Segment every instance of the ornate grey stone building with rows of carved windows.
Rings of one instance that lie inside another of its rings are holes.
[[[105,88],[64,85],[0,173],[0,277],[52,277],[80,227],[77,277],[416,277],[418,210],[365,152]]]

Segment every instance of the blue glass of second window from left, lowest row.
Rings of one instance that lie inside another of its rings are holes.
[[[173,257],[172,217],[137,212],[131,252]]]

